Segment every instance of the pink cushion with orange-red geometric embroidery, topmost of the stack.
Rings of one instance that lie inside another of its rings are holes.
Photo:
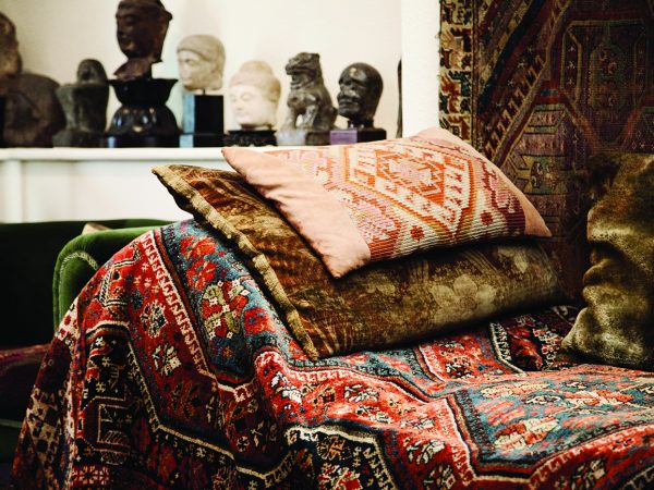
[[[335,278],[417,250],[550,236],[538,211],[496,166],[438,127],[355,145],[222,152]]]

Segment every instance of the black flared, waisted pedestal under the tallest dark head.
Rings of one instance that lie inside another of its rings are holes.
[[[122,106],[111,119],[102,146],[107,148],[179,146],[180,130],[174,114],[166,106],[170,89],[177,79],[111,79],[109,83]]]

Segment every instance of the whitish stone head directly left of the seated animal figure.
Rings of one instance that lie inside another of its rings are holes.
[[[277,123],[279,79],[265,61],[246,61],[229,81],[229,100],[243,130],[271,130]]]

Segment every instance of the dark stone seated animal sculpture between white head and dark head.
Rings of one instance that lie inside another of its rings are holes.
[[[320,57],[301,52],[286,65],[291,76],[287,100],[289,112],[277,132],[278,145],[326,145],[334,127],[336,109],[323,82]]]

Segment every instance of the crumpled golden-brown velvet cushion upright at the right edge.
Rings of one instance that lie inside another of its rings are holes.
[[[589,162],[600,196],[589,212],[591,267],[562,355],[654,370],[654,155]]]

